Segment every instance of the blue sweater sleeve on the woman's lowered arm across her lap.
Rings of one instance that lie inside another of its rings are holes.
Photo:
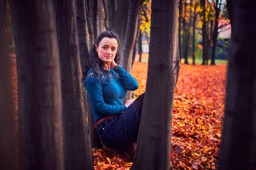
[[[92,109],[100,116],[116,115],[126,109],[126,106],[111,105],[104,101],[102,94],[102,84],[98,78],[90,78],[86,82],[86,90],[89,95]]]

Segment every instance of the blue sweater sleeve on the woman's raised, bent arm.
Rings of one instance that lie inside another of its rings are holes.
[[[122,67],[119,67],[116,70],[116,73],[118,73],[118,75],[120,76],[121,81],[126,90],[137,90],[138,89],[138,87],[139,87],[138,82],[125,69],[123,69]]]

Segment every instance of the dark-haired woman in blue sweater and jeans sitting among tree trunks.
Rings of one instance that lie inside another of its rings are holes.
[[[119,64],[118,39],[115,32],[102,32],[90,51],[90,69],[84,81],[92,105],[97,133],[102,143],[120,153],[134,155],[143,96],[122,100],[127,90],[138,89],[137,81]]]

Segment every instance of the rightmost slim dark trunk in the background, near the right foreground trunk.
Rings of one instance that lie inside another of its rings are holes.
[[[212,51],[211,51],[211,65],[215,65],[215,52],[217,46],[217,38],[218,38],[218,23],[219,23],[219,16],[220,16],[220,8],[218,8],[219,0],[216,0],[215,6],[215,20],[214,20],[214,30],[212,35]]]

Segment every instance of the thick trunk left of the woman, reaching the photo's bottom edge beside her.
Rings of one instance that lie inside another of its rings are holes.
[[[93,169],[79,71],[75,1],[58,1],[56,23],[61,66],[65,169]]]

